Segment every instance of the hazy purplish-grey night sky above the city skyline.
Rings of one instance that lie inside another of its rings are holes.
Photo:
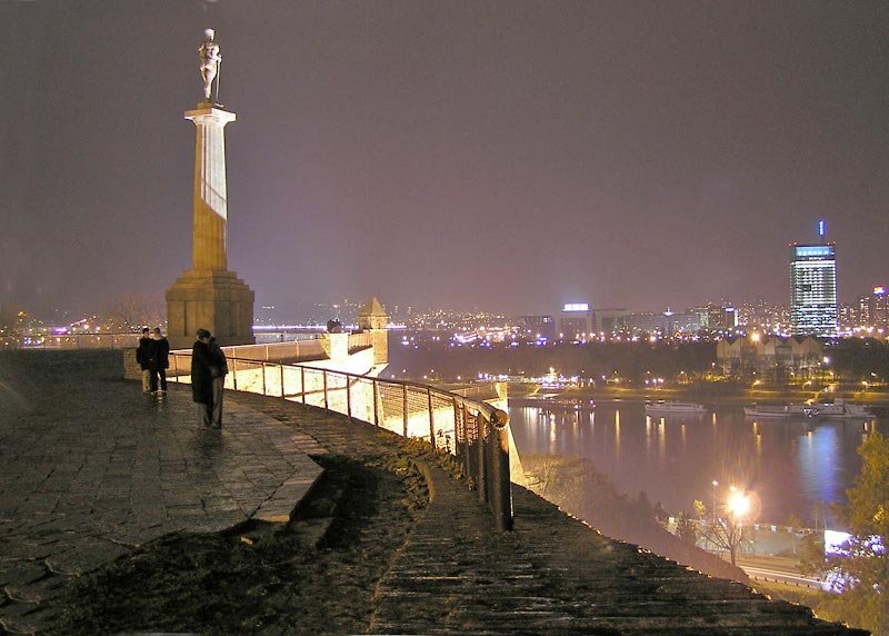
[[[889,285],[886,2],[0,0],[0,302],[190,267],[206,27],[258,304],[786,304],[821,217]]]

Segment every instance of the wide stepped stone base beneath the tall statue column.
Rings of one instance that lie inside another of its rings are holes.
[[[220,346],[252,345],[253,290],[233,271],[189,270],[167,290],[167,339],[188,349],[198,329]]]

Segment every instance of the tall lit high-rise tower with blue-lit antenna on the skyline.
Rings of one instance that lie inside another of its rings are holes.
[[[837,335],[837,256],[825,238],[825,221],[818,222],[822,242],[791,244],[790,331],[797,336]]]

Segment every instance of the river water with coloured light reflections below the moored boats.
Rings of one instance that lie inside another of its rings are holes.
[[[586,457],[618,490],[670,511],[709,506],[712,481],[755,490],[759,521],[785,523],[796,515],[810,523],[821,503],[845,504],[846,489],[861,467],[856,449],[862,420],[745,419],[740,408],[705,415],[649,417],[642,403],[599,403],[596,411],[541,414],[510,407],[519,455]]]

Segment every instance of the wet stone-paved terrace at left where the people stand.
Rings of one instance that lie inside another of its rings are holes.
[[[120,376],[107,354],[0,362],[0,624],[162,535],[286,520],[321,474],[312,438],[228,394],[223,429],[199,429],[189,387]]]

